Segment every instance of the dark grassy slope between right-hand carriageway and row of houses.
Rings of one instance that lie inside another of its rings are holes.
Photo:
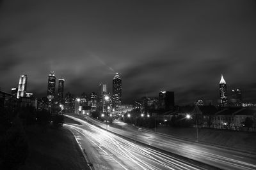
[[[152,129],[154,131],[154,129]],[[177,136],[179,138],[195,141],[195,128],[172,128],[158,127],[157,132]],[[212,145],[220,145],[246,152],[256,153],[256,133],[255,132],[237,132],[220,129],[199,129],[198,140]]]

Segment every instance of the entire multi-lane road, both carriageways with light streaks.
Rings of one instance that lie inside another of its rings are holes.
[[[87,117],[88,121],[99,127],[79,118],[70,118],[80,122],[81,125],[65,125],[65,127],[74,133],[97,169],[203,169],[185,160],[136,145],[106,132],[99,128],[106,129],[106,124],[90,117]],[[131,139],[134,139],[135,135],[134,127],[129,125],[108,127],[108,131]],[[250,153],[202,145],[148,131],[138,132],[137,140],[220,169],[256,169],[256,156]]]

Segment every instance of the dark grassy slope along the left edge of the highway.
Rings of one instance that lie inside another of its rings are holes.
[[[68,120],[72,121],[72,120]],[[72,132],[60,127],[26,128],[29,155],[21,169],[89,169]]]

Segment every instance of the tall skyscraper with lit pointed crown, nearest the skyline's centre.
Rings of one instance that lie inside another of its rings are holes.
[[[122,97],[122,80],[118,73],[113,79],[113,108],[118,111],[118,106],[121,104]]]

